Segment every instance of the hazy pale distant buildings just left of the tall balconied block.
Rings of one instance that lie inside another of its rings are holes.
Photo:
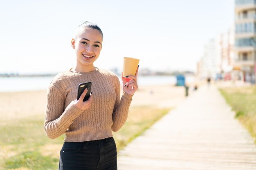
[[[204,46],[204,54],[198,62],[200,79],[242,80],[241,71],[234,66],[234,28],[211,39]],[[239,68],[240,69],[240,68]]]

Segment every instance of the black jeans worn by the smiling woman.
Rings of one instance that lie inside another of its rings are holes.
[[[117,170],[117,147],[114,138],[64,142],[59,170]]]

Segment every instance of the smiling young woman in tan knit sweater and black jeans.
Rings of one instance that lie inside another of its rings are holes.
[[[96,24],[85,22],[77,27],[71,46],[76,66],[55,76],[47,92],[45,132],[51,139],[65,133],[59,170],[117,170],[117,148],[112,131],[126,122],[132,96],[138,89],[137,73],[122,76],[120,99],[118,77],[94,67],[102,48],[103,33]],[[90,98],[79,100],[78,85],[92,82]]]

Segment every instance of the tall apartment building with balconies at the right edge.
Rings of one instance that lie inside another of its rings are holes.
[[[256,0],[236,0],[233,66],[243,72],[246,82],[255,83],[255,61]]]

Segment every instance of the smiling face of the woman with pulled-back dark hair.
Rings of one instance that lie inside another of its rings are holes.
[[[77,66],[94,67],[93,63],[101,52],[103,37],[97,29],[85,28],[78,31],[72,47],[76,50]]]

